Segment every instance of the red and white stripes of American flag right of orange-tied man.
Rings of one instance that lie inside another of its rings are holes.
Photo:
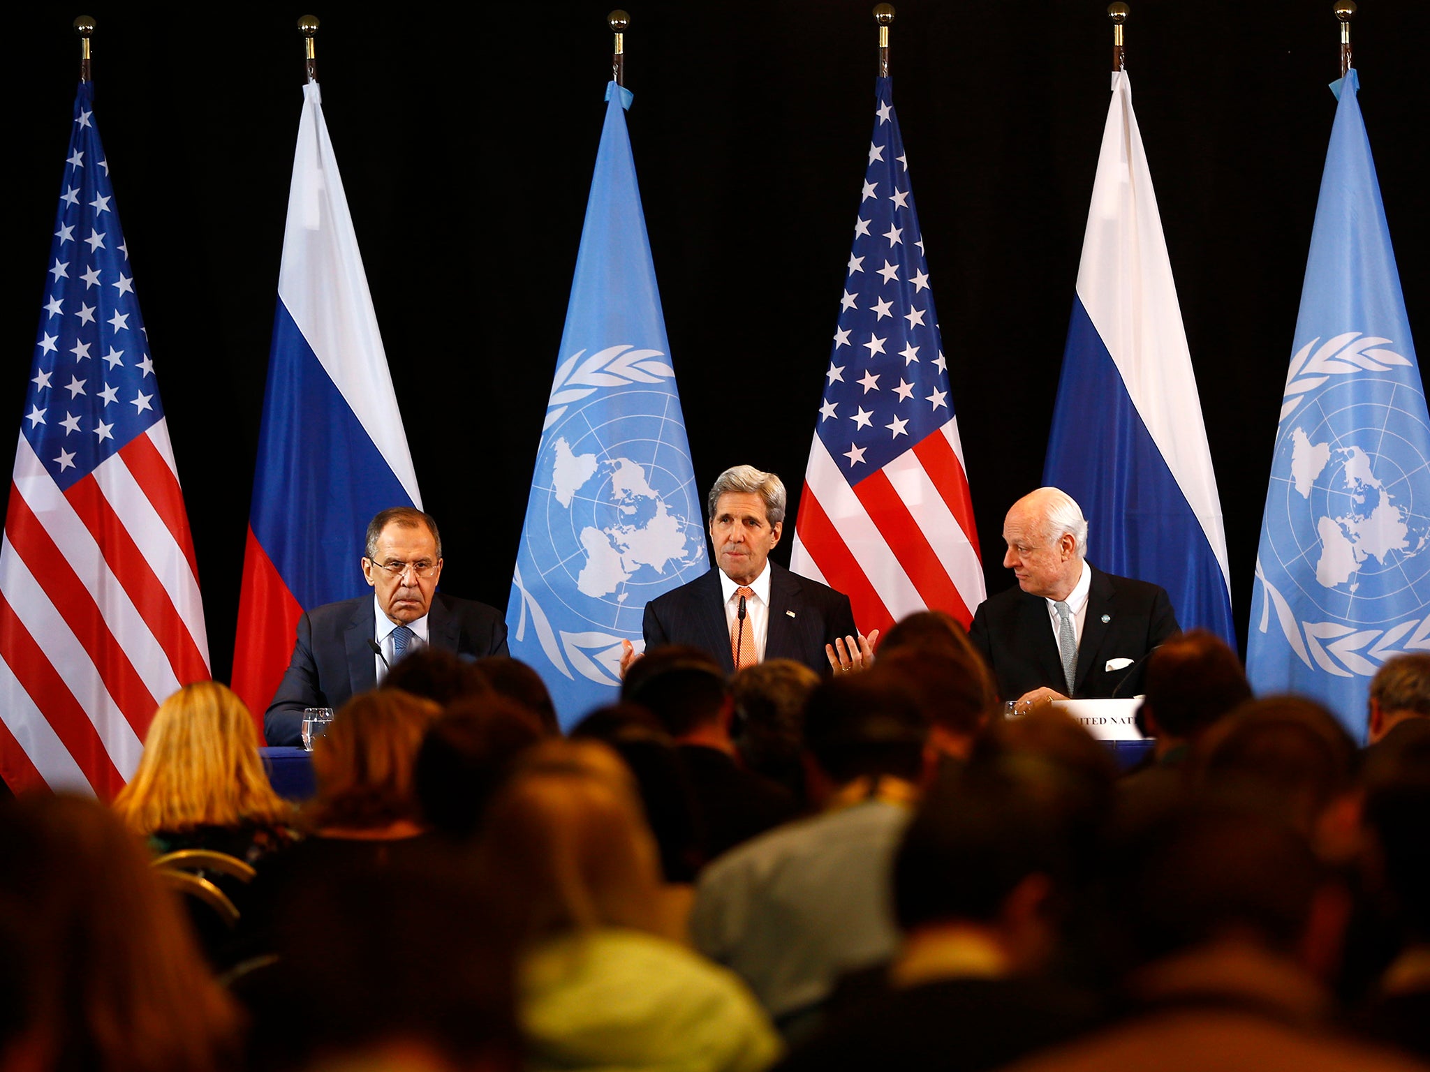
[[[854,486],[815,435],[789,567],[848,595],[864,633],[924,609],[967,626],[987,590],[958,422]]]

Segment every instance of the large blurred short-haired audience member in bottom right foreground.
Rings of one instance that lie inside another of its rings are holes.
[[[1277,816],[1197,799],[1113,860],[1111,933],[1125,945],[1130,1009],[1017,1072],[1420,1068],[1333,1032],[1324,983],[1346,893]]]

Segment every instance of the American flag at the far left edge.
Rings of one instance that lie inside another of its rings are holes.
[[[60,190],[0,546],[0,775],[107,799],[209,650],[89,81]]]

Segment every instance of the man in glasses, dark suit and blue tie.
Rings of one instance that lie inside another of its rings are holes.
[[[422,645],[458,655],[506,655],[506,622],[485,603],[438,593],[442,537],[422,510],[398,506],[368,526],[362,572],[373,596],[313,607],[263,716],[269,745],[297,745],[303,708],[340,708]]]

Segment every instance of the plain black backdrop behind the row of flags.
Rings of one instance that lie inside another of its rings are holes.
[[[226,680],[302,100],[302,10],[134,7],[90,9],[96,114],[187,497],[214,676]],[[423,500],[442,523],[443,583],[505,607],[601,130],[608,9],[356,7],[315,9],[323,107]],[[1008,583],[1002,515],[1042,470],[1107,114],[1104,7],[901,0],[892,30],[990,590]],[[872,123],[869,9],[631,0],[628,119],[701,486],[735,462],[782,473],[792,493],[802,483]],[[1334,113],[1330,9],[1133,0],[1127,26],[1243,647]],[[0,415],[13,427],[69,137],[74,14],[51,3],[6,14],[0,387],[10,402]],[[1366,0],[1354,26],[1421,346],[1427,30],[1419,0]]]

